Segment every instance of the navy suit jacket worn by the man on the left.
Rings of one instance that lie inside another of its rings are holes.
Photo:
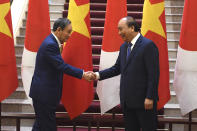
[[[55,37],[50,34],[37,52],[29,96],[46,104],[54,106],[59,104],[63,73],[81,79],[83,70],[64,63],[58,43]]]

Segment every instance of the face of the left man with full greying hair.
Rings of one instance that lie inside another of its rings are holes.
[[[72,33],[72,25],[69,24],[64,28],[64,30],[60,30],[59,41],[61,43],[66,42],[68,40],[68,38],[70,37],[71,33]]]

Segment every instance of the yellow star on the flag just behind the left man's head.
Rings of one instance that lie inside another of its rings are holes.
[[[78,32],[88,38],[90,38],[90,33],[85,22],[85,17],[88,15],[90,10],[90,4],[84,4],[77,6],[75,0],[70,0],[68,19],[72,22],[73,31]]]

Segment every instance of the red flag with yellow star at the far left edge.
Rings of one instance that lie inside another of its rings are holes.
[[[18,87],[10,1],[0,2],[0,102]]]

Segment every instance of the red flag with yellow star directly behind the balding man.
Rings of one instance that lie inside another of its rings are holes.
[[[170,99],[169,63],[164,0],[145,0],[141,33],[151,39],[159,49],[160,79],[158,109]]]

